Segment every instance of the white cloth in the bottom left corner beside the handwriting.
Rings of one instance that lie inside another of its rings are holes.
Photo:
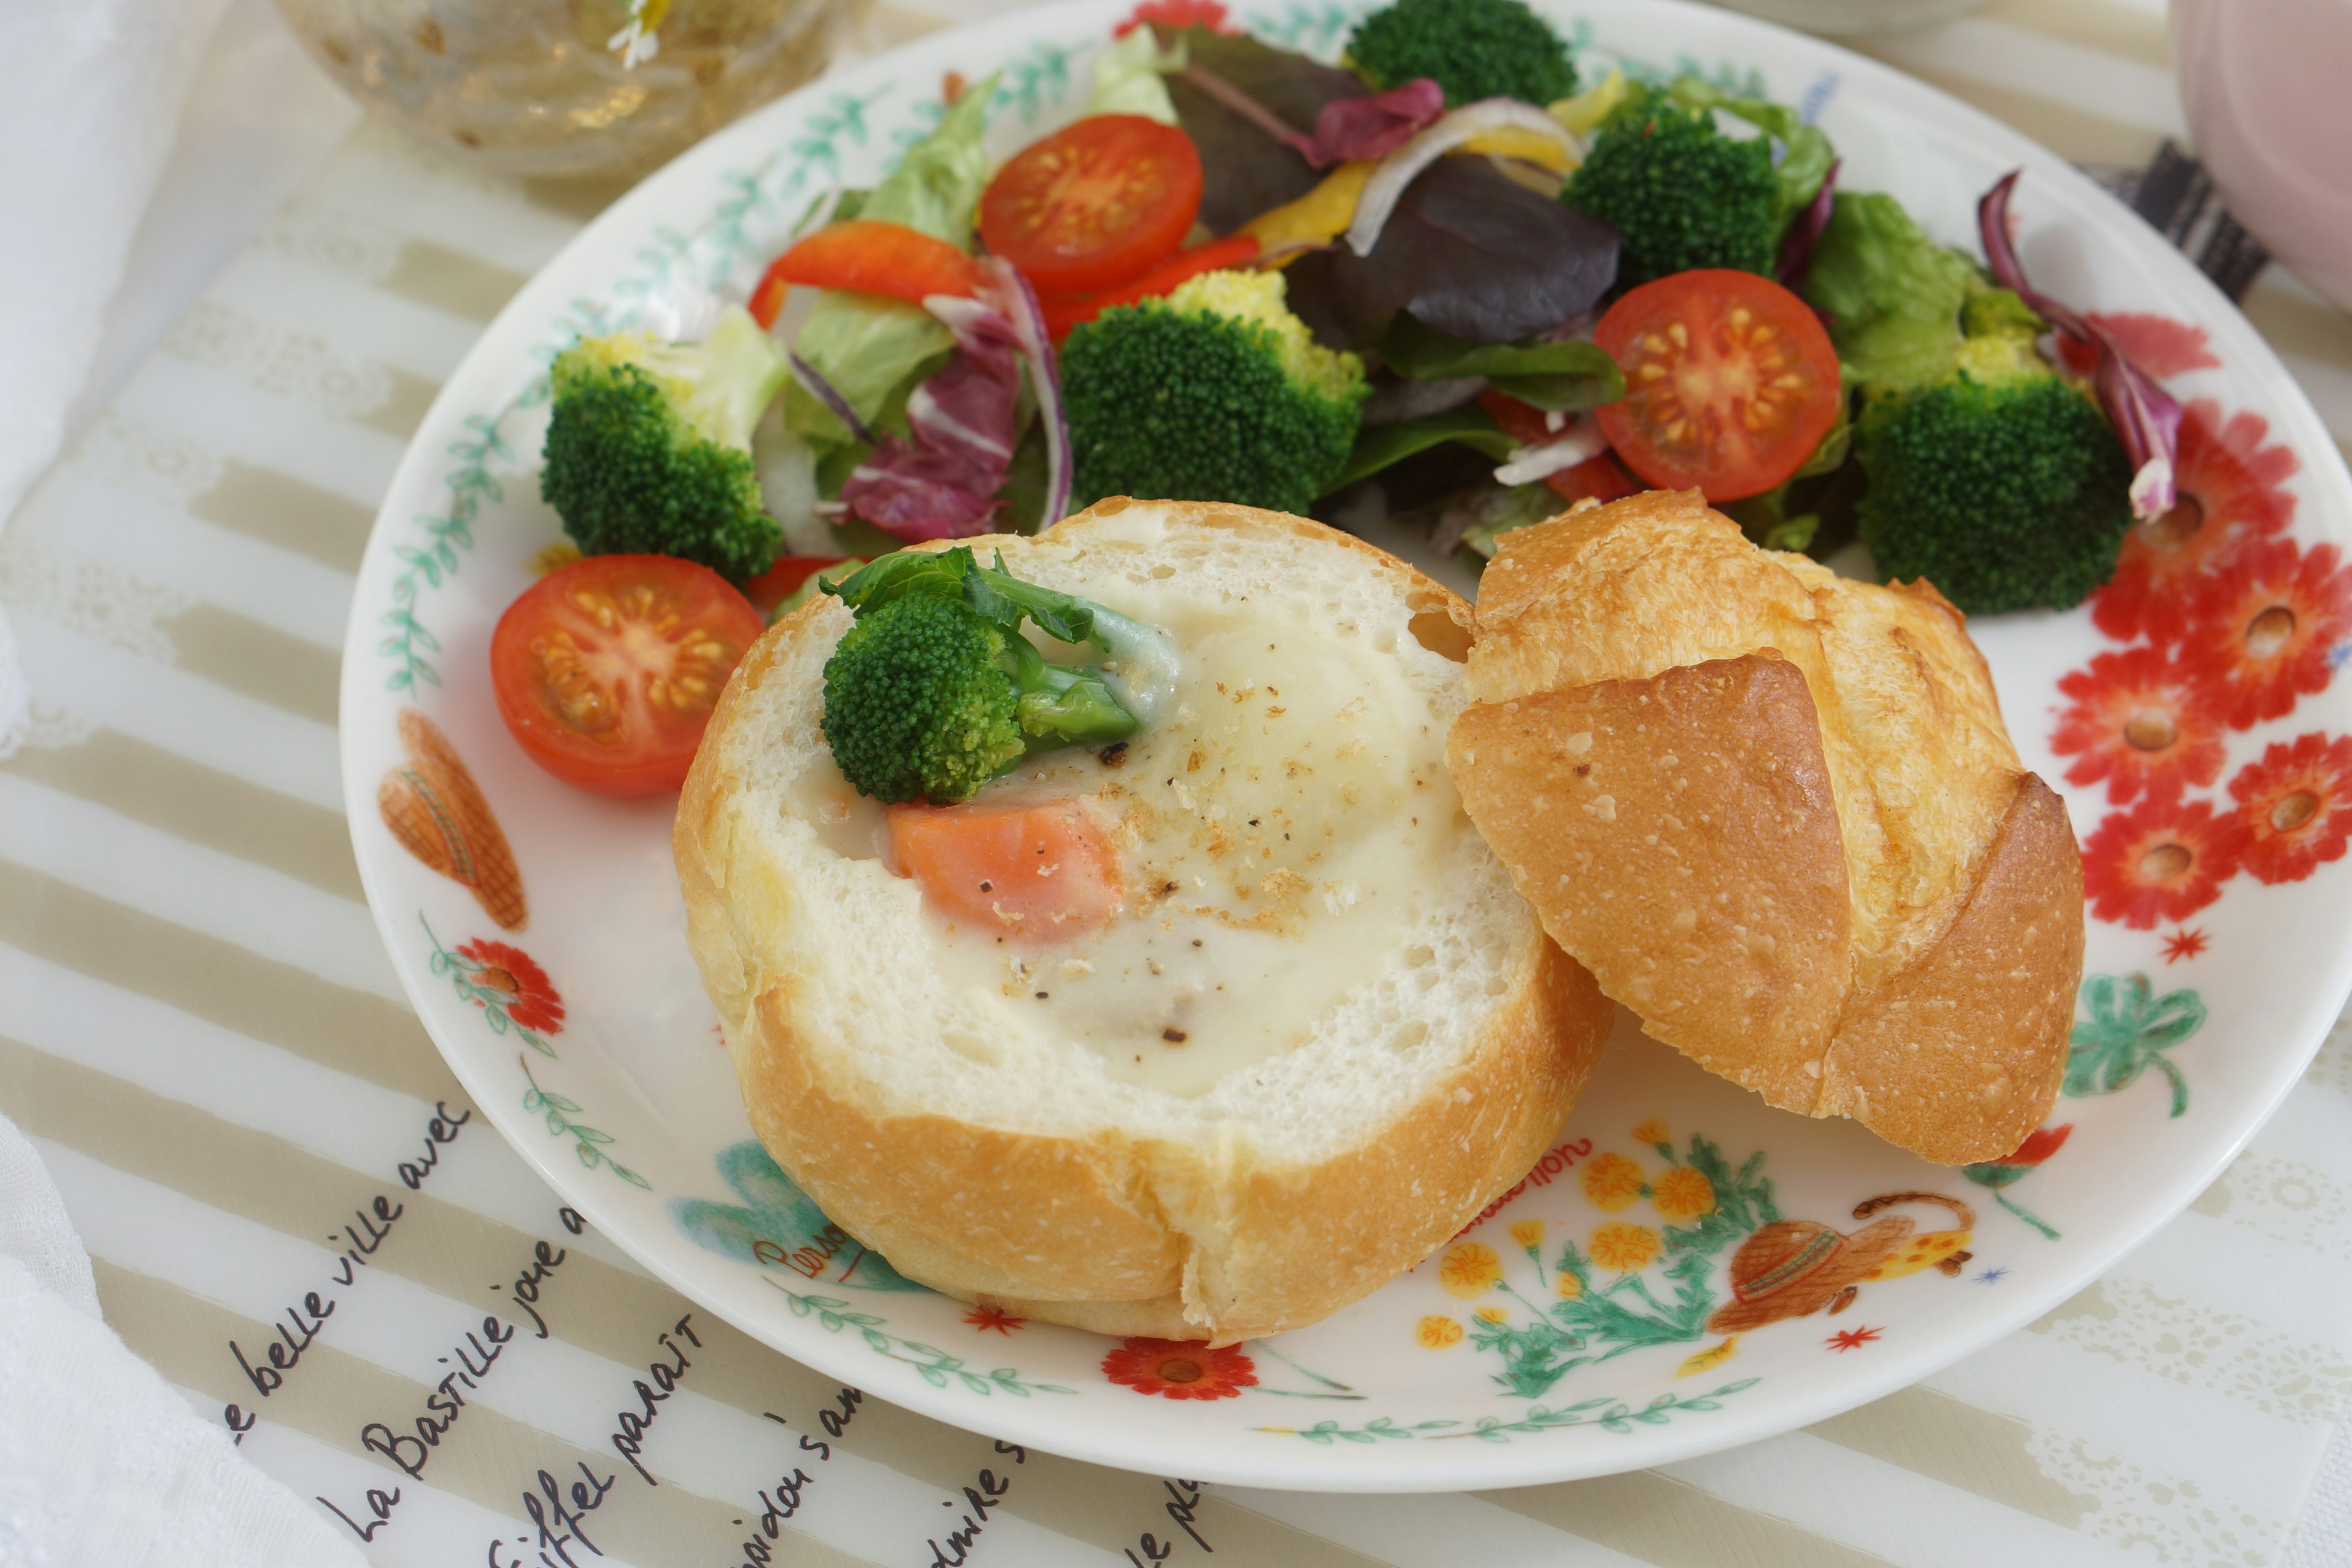
[[[0,1117],[0,1563],[362,1561],[115,1338],[56,1185]]]

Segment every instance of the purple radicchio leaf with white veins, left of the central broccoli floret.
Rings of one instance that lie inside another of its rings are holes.
[[[884,433],[840,494],[854,515],[908,543],[988,531],[1021,397],[1011,322],[969,299],[927,303],[955,331],[955,353],[906,400],[910,440]]]

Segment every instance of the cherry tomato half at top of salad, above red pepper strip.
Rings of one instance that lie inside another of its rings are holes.
[[[1089,115],[997,169],[981,237],[1040,292],[1089,294],[1167,261],[1197,212],[1190,136],[1143,115]]]

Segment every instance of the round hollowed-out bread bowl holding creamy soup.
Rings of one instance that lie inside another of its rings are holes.
[[[962,543],[1185,649],[1120,766],[1049,752],[990,785],[1098,813],[1131,907],[1037,940],[894,875],[823,745],[851,614],[818,595],[729,682],[675,827],[750,1124],[950,1295],[1218,1345],[1327,1316],[1524,1175],[1613,1016],[1446,776],[1461,602],[1235,505],[1112,498]]]

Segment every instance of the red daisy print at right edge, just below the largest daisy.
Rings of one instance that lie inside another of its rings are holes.
[[[2291,538],[2263,538],[2199,585],[2190,618],[2183,663],[2232,729],[2253,729],[2328,684],[2336,649],[2352,637],[2352,567],[2336,545],[2303,552]]]

